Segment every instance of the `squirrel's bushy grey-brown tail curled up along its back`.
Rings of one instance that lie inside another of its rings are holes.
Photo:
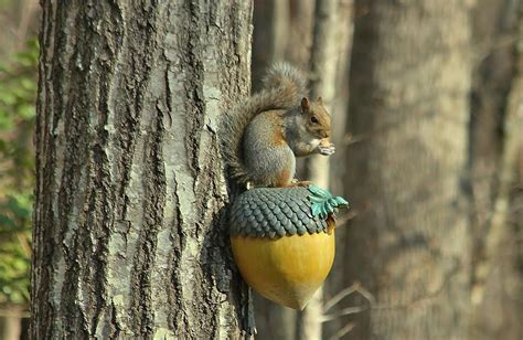
[[[241,183],[252,180],[242,161],[242,140],[249,121],[263,111],[298,106],[307,94],[302,72],[286,63],[274,64],[263,84],[260,92],[239,102],[222,117],[222,152],[231,176]]]

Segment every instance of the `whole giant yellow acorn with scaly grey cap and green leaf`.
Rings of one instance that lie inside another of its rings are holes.
[[[303,309],[332,267],[334,214],[348,204],[316,185],[242,193],[228,220],[242,277],[269,300]]]

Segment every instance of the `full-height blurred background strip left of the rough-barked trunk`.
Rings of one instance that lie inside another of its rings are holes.
[[[39,47],[35,0],[0,0],[0,339],[26,338]]]

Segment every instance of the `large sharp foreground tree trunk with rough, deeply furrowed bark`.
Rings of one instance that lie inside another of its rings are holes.
[[[239,336],[220,113],[250,1],[42,1],[34,339]]]

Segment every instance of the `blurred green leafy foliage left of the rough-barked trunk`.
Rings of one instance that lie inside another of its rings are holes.
[[[26,304],[34,184],[35,41],[0,63],[0,304]]]

